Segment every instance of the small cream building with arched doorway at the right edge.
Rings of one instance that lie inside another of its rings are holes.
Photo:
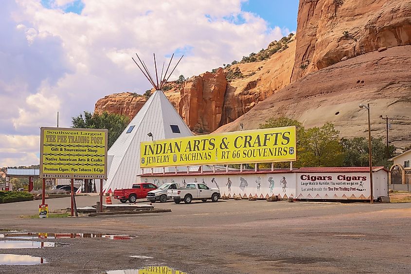
[[[393,190],[410,191],[411,149],[388,160],[393,161],[393,166],[390,168],[390,188]]]

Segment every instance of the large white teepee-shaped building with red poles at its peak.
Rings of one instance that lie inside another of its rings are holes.
[[[143,72],[137,62],[136,65]],[[140,181],[138,181],[138,174],[141,172],[141,142],[151,141],[151,138],[161,140],[193,135],[181,119],[179,113],[161,91],[162,86],[168,79],[165,75],[168,69],[164,74],[164,78],[161,79],[160,85],[156,85],[143,62],[141,62],[141,66],[147,73],[143,72],[144,76],[146,76],[156,91],[150,96],[143,108],[134,116],[127,128],[125,128],[120,137],[108,150],[108,175],[103,187],[103,192],[105,193],[111,193],[114,192],[115,189],[120,188],[131,188],[133,183],[140,183]],[[173,71],[171,73],[173,73]],[[157,83],[159,83],[158,79]],[[151,133],[150,135],[152,135],[152,137],[148,136],[149,133]],[[167,169],[166,171],[174,171],[174,168],[171,169],[172,170]],[[183,168],[181,170],[183,170]],[[162,168],[155,168],[154,172],[162,172]]]

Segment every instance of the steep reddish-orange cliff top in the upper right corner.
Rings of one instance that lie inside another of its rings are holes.
[[[411,0],[300,0],[292,81],[381,47],[411,44]]]

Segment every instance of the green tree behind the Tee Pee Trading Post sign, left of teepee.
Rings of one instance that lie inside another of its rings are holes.
[[[72,128],[108,129],[108,148],[114,144],[129,122],[127,116],[107,111],[101,114],[84,111],[84,116],[80,114],[71,118]]]

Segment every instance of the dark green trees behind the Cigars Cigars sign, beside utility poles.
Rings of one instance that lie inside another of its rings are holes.
[[[368,139],[364,137],[356,137],[352,139],[342,138],[340,141],[344,150],[344,166],[368,166]],[[389,158],[395,155],[395,146],[387,146],[382,137],[371,138],[371,149],[373,151],[373,165],[390,167]]]

